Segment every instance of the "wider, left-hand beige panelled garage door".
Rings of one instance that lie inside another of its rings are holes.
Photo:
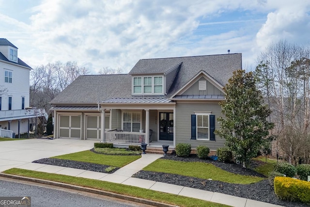
[[[81,138],[81,116],[60,115],[59,136],[64,138]]]

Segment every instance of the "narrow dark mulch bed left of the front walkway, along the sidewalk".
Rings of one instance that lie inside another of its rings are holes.
[[[47,165],[56,165],[56,166],[62,166],[62,167],[70,167],[70,168],[76,168],[81,170],[90,170],[94,172],[99,173],[107,173],[105,170],[108,168],[108,165],[100,165],[100,164],[94,164],[89,162],[79,162],[79,161],[73,161],[68,159],[54,159],[54,158],[44,158],[44,159],[38,159],[34,160],[34,163],[41,163],[41,164],[47,164]],[[114,173],[116,170],[120,168],[115,168],[114,170],[110,171],[109,174]]]

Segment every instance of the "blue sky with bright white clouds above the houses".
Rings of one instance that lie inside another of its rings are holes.
[[[35,68],[77,62],[128,73],[140,59],[242,53],[310,39],[310,0],[0,0],[0,38]]]

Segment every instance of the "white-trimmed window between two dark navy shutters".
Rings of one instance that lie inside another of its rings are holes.
[[[209,115],[208,112],[199,112],[196,114],[196,123],[197,123],[197,130],[196,130],[196,137],[197,140],[210,140],[210,130],[209,130]]]

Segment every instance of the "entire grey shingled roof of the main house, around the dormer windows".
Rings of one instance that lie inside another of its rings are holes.
[[[167,89],[167,95],[132,96],[132,75],[166,74],[178,65],[179,71],[171,88]],[[241,68],[241,53],[143,59],[133,67],[129,74],[79,76],[51,103],[87,104],[113,98],[170,98],[202,70],[224,86],[233,75],[233,71]]]

